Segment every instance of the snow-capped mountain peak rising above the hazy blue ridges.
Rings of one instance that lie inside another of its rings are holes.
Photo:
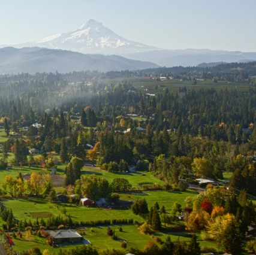
[[[0,45],[1,46],[1,45]],[[5,45],[6,46],[6,45]],[[53,35],[42,40],[12,45],[16,48],[41,47],[78,51],[84,54],[139,53],[158,48],[129,41],[115,34],[102,23],[89,19],[75,31]]]

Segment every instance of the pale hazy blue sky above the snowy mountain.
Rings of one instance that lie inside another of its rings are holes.
[[[160,48],[256,51],[255,0],[0,0],[0,44],[79,28],[88,19]]]

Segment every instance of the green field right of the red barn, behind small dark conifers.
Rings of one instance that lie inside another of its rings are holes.
[[[178,202],[182,207],[186,207],[184,202],[187,196],[197,196],[196,192],[143,192],[143,193],[132,193],[132,194],[120,194],[121,199],[136,201],[137,199],[146,199],[148,207],[152,207],[155,202],[158,202],[159,207],[163,205],[165,210],[171,210],[174,202]],[[128,196],[130,198],[128,198]]]

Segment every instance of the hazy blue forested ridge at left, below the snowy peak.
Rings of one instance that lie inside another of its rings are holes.
[[[150,62],[126,59],[121,56],[82,54],[67,50],[47,48],[0,48],[0,74],[19,72],[71,72],[71,71],[121,71],[156,68]]]

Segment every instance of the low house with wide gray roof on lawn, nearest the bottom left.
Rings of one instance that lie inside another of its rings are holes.
[[[59,242],[82,242],[83,236],[79,233],[67,230],[50,231],[50,235],[53,237],[53,242],[58,244]]]

